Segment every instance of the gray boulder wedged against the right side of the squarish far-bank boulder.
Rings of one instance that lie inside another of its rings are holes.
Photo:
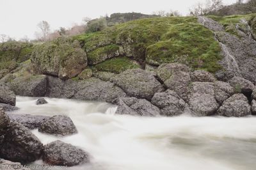
[[[227,82],[216,81],[214,82],[215,99],[219,104],[227,100],[227,98],[234,95],[234,88]]]

